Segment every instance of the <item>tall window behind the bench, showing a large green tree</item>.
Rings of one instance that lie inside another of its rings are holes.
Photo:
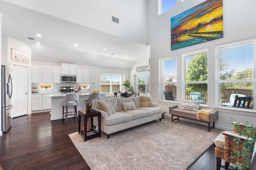
[[[197,100],[202,104],[207,104],[207,57],[205,49],[182,55],[182,65],[185,66],[182,72],[182,84],[184,84],[186,100]]]

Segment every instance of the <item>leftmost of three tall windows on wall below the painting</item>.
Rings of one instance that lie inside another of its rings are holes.
[[[166,57],[158,60],[159,99],[177,100],[177,57]]]

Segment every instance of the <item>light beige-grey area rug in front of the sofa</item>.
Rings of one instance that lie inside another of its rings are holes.
[[[84,142],[69,134],[91,170],[186,170],[212,144],[221,129],[174,121],[166,116],[124,131]]]

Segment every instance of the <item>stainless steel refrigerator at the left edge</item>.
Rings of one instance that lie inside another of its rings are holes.
[[[10,111],[12,110],[12,77],[10,75],[10,68],[2,65],[1,75],[1,91],[2,91],[2,131],[6,133],[11,127]]]

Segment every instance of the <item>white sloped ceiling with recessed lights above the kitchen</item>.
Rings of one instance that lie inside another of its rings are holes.
[[[148,61],[150,55],[150,47],[145,44],[6,1],[0,0],[0,12],[2,35],[26,43],[32,61],[129,70],[136,61]]]

